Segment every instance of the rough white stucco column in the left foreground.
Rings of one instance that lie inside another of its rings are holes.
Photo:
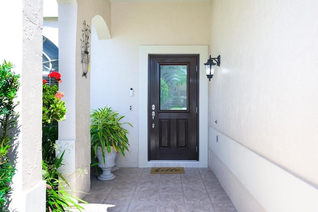
[[[16,168],[10,211],[45,211],[45,181],[42,181],[42,2],[1,1],[0,61],[12,62],[20,74],[19,113],[10,156]]]

